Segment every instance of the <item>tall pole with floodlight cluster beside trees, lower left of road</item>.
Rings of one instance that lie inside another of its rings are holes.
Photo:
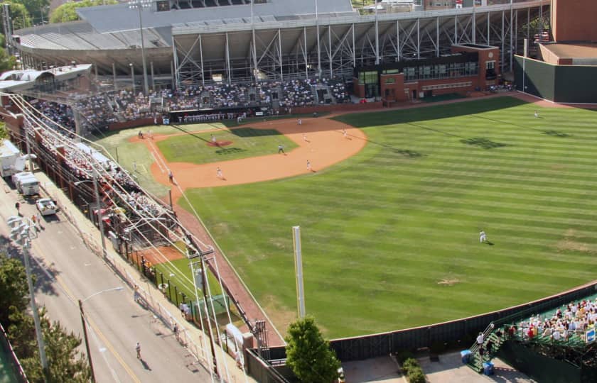
[[[39,321],[39,312],[36,304],[36,296],[33,292],[33,281],[31,280],[31,265],[29,264],[29,249],[31,248],[30,226],[23,221],[23,218],[11,216],[6,220],[11,229],[11,240],[23,249],[23,263],[25,263],[25,273],[27,276],[27,286],[29,288],[29,299],[31,301],[31,311],[33,311],[33,323],[36,328],[36,338],[39,348],[39,359],[41,360],[41,369],[43,371],[43,381],[48,382],[48,360],[45,357],[45,343],[43,342],[43,333],[41,332],[41,323]]]

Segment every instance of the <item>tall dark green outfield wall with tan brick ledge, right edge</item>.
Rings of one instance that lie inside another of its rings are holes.
[[[559,103],[597,103],[597,44],[545,44],[539,51],[543,60],[515,55],[517,90]]]

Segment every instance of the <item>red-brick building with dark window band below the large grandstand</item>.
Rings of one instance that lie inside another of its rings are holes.
[[[452,45],[451,53],[356,67],[354,94],[389,103],[439,94],[488,89],[500,81],[500,49],[490,45]]]

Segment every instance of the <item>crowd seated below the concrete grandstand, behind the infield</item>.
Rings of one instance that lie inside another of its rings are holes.
[[[276,108],[274,108],[274,101],[277,101]],[[242,109],[251,106],[289,111],[294,107],[314,106],[331,101],[337,104],[350,102],[350,96],[342,79],[324,77],[284,82],[194,85],[175,91],[171,89],[150,91],[147,96],[141,91],[123,89],[82,96],[75,101],[72,108],[80,113],[82,131],[94,131],[95,129],[106,130],[112,123],[155,118],[158,113],[168,111],[193,111],[204,108]],[[71,106],[39,100],[38,109],[55,123],[75,131],[75,116]],[[236,116],[226,112],[211,113],[197,118],[185,116],[178,122],[214,121],[236,118]]]

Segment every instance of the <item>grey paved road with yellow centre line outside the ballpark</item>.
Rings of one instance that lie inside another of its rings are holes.
[[[18,196],[5,184],[2,186],[0,234],[5,238],[0,242],[6,247],[10,246],[6,243],[6,219],[16,213],[14,203]],[[24,216],[31,216],[34,211],[33,204],[21,201]],[[134,302],[131,289],[85,248],[60,213],[46,219],[43,228],[31,249],[32,265],[38,275],[36,300],[45,304],[52,320],[82,336],[77,300],[91,296],[83,306],[90,322],[88,333],[97,382],[211,380],[193,356],[178,345],[172,332]],[[14,250],[10,252],[15,254]],[[136,342],[141,343],[141,360],[136,358]],[[83,345],[81,350],[85,351]]]

